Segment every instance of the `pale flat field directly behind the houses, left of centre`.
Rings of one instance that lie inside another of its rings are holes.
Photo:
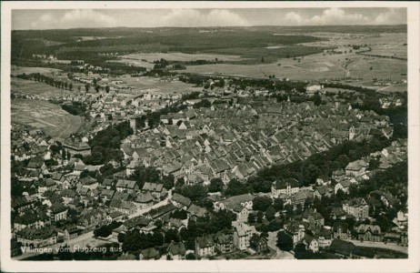
[[[124,77],[120,78],[126,84],[118,86],[133,86],[139,91],[149,91],[151,93],[160,94],[185,94],[194,91],[203,90],[202,87],[194,87],[183,82],[162,81],[159,78],[142,76],[142,77]],[[121,91],[124,93],[124,91]]]

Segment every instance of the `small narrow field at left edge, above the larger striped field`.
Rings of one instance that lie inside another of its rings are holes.
[[[27,67],[23,67],[26,70]],[[31,67],[28,67],[31,68]],[[37,69],[37,68],[36,68]],[[35,70],[36,71],[36,70]],[[40,72],[42,73],[42,72]],[[22,95],[40,95],[45,97],[69,95],[70,91],[49,86],[31,80],[12,77],[10,81],[11,91]],[[75,91],[73,91],[75,92]]]

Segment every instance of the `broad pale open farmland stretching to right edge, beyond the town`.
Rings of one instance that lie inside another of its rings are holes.
[[[391,76],[392,80],[396,81],[406,78],[406,76],[401,76],[401,74],[407,73],[407,65],[405,61],[401,60],[347,53],[342,55],[325,54],[325,56],[324,54],[315,54],[302,57],[300,62],[293,58],[283,58],[277,60],[274,64],[259,64],[255,66],[231,64],[189,66],[184,71],[200,74],[255,77],[275,75],[276,77],[289,77],[295,80],[321,80],[350,76],[372,81],[375,77],[386,78]]]

